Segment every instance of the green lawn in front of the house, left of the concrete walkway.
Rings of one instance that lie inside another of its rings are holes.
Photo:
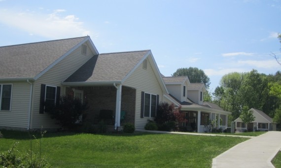
[[[18,141],[30,149],[27,132],[1,130],[0,151]],[[40,135],[36,135],[40,137]],[[239,137],[179,134],[85,134],[47,132],[42,155],[52,167],[189,167],[210,168],[212,158],[247,140]],[[34,140],[33,140],[34,141]]]

